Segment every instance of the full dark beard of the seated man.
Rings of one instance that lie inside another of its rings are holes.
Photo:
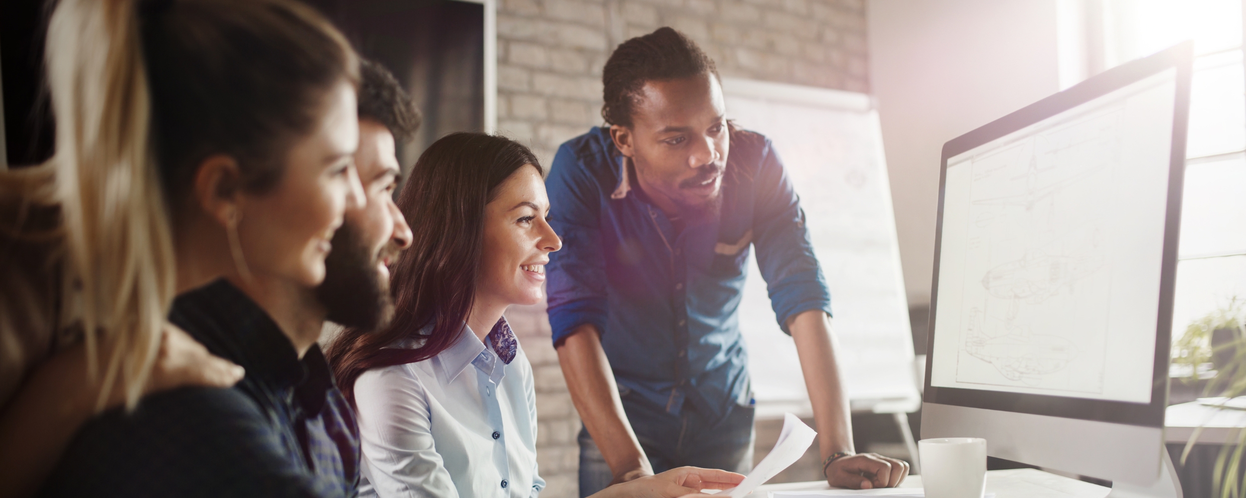
[[[381,254],[370,254],[350,223],[343,223],[324,260],[324,281],[315,289],[316,299],[328,311],[325,319],[369,331],[388,324],[394,316],[394,298],[389,280],[381,279],[376,265],[392,251],[386,244]]]

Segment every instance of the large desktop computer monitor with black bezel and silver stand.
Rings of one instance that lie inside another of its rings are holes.
[[[1191,59],[1177,45],[943,146],[922,437],[1161,477]]]

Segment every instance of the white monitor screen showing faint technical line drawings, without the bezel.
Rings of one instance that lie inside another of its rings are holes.
[[[930,386],[1153,401],[1176,85],[947,158]]]

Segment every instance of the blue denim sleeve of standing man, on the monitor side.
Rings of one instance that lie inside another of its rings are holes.
[[[770,305],[784,332],[787,320],[809,310],[831,314],[831,293],[814,255],[805,210],[778,152],[766,139],[756,177],[754,244]]]

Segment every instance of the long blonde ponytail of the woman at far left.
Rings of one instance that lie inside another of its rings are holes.
[[[97,410],[118,382],[126,407],[142,396],[177,276],[142,54],[133,0],[61,0],[51,16],[45,63],[66,248],[62,322],[81,325],[87,371],[102,386]]]

